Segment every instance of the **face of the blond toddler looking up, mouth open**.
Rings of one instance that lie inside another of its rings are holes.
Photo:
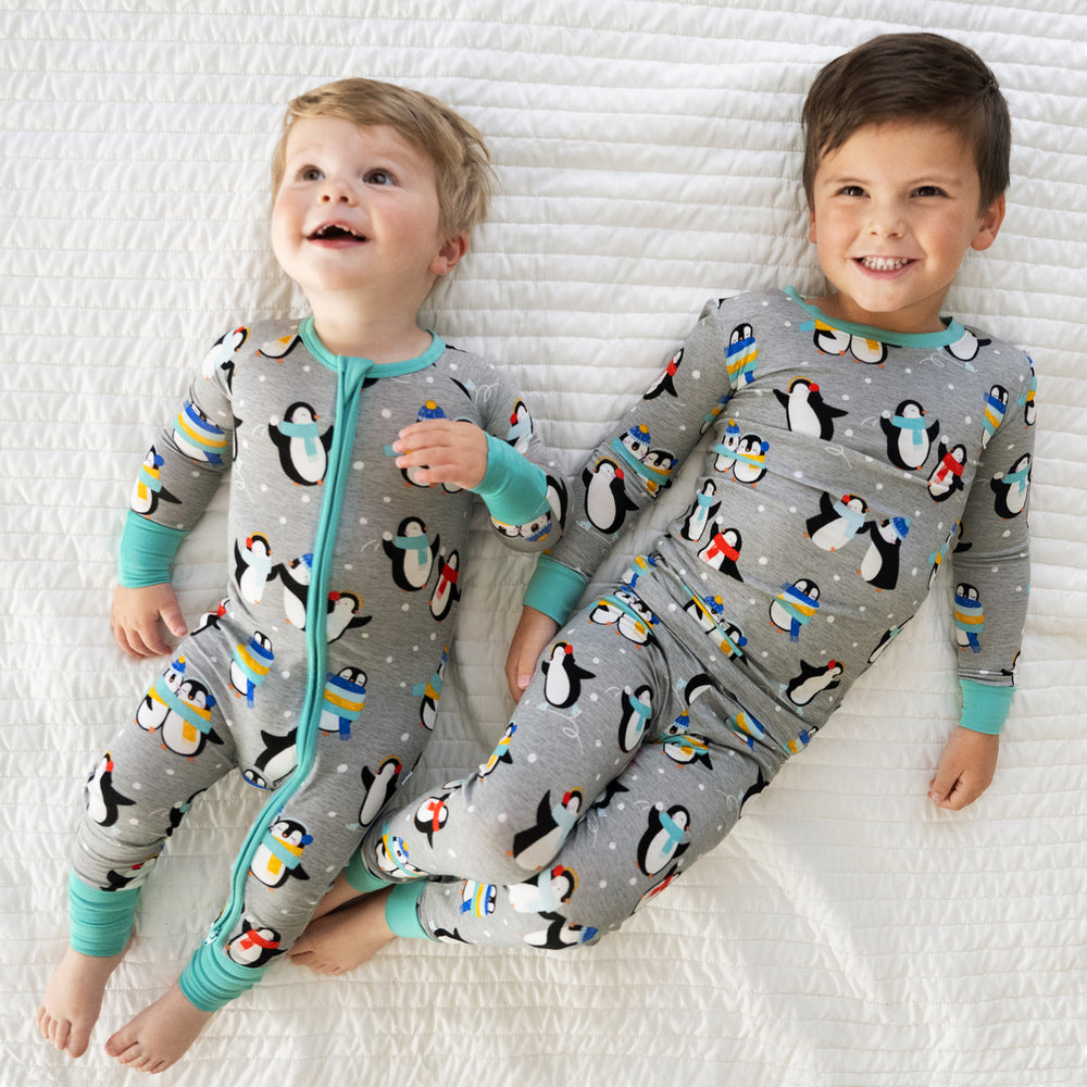
[[[272,248],[311,305],[377,290],[417,309],[464,253],[462,236],[440,236],[434,163],[392,128],[298,121],[285,165]]]

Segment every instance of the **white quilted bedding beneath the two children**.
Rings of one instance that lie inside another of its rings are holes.
[[[237,782],[193,810],[146,891],[92,1052],[72,1062],[41,1042],[32,1016],[64,947],[80,780],[157,667],[127,663],[108,626],[130,479],[207,347],[236,318],[299,304],[264,228],[285,101],[371,75],[438,95],[487,134],[501,195],[432,320],[517,376],[573,465],[705,298],[819,286],[795,180],[803,92],[830,57],[921,28],[919,17],[978,49],[1015,118],[1007,221],[994,249],[967,260],[949,307],[1024,346],[1039,380],[1034,588],[991,788],[960,814],[925,800],[957,712],[942,585],[725,844],[620,934],[565,953],[400,942],[339,979],[280,963],[164,1079],[1087,1082],[1078,0],[3,8],[4,1087],[135,1082],[100,1042],[200,939],[257,810]],[[220,505],[182,552],[190,617],[217,600],[223,535]],[[528,566],[477,540],[434,777],[477,763],[509,709],[501,662]]]

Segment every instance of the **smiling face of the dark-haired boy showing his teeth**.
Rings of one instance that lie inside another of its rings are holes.
[[[838,291],[829,316],[892,332],[939,332],[940,308],[967,249],[992,245],[1003,197],[979,209],[974,157],[932,122],[859,128],[823,157],[809,238]]]

